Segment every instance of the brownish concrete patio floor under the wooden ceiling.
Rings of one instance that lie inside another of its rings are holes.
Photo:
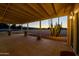
[[[23,34],[12,36],[0,35],[0,55],[11,56],[59,56],[61,51],[72,51],[66,46],[66,42],[55,41]],[[6,54],[5,54],[6,53]]]

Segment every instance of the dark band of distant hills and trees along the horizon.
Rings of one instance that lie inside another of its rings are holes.
[[[16,26],[15,24],[11,25],[11,29],[12,30],[20,30],[22,26]],[[4,23],[0,23],[0,29],[8,29],[9,25],[8,24],[4,24]],[[27,27],[22,27],[23,29],[27,29]],[[34,28],[34,27],[28,27],[29,30],[35,29],[35,30],[39,30],[40,28]],[[42,30],[48,30],[50,28],[41,28]],[[62,30],[67,30],[67,28],[62,28]]]

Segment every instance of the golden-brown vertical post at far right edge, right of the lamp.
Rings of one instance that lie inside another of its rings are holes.
[[[76,53],[79,53],[79,19],[78,19],[78,13],[74,14],[73,18],[73,49],[76,51]]]

